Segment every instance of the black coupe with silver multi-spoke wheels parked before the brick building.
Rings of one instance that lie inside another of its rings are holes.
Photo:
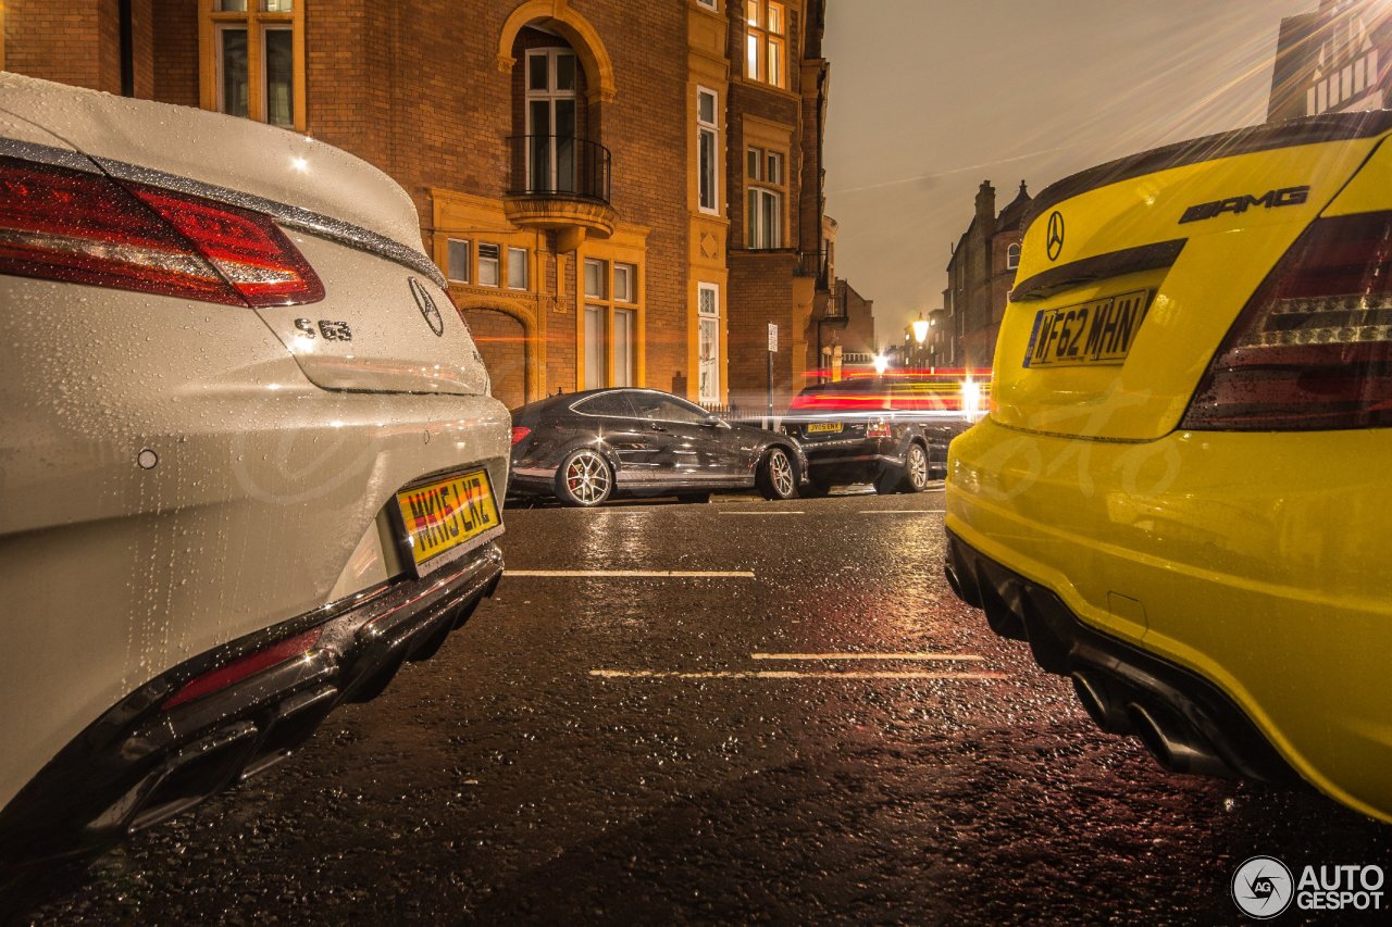
[[[600,505],[614,496],[707,501],[757,487],[792,498],[807,464],[784,434],[731,425],[657,390],[553,395],[512,412],[512,491]]]

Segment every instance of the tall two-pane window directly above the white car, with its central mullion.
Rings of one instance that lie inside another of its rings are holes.
[[[203,109],[281,128],[305,127],[303,8],[294,0],[200,4]]]

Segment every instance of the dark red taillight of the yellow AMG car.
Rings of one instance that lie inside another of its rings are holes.
[[[1180,427],[1392,425],[1392,213],[1321,219],[1233,323]]]

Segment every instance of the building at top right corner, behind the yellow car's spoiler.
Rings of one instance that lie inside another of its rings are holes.
[[[1318,10],[1281,21],[1267,121],[1385,109],[1389,71],[1392,6],[1320,0]]]

